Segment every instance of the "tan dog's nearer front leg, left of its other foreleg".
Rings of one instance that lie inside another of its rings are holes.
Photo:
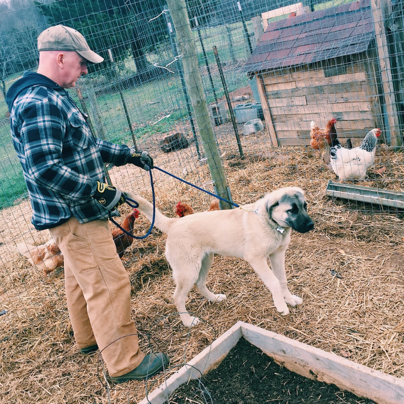
[[[268,266],[267,259],[258,257],[244,257],[244,259],[251,265],[252,269],[256,271],[257,275],[265,283],[265,286],[271,291],[276,310],[282,316],[288,315],[289,309],[283,298],[281,285],[279,284],[278,278]]]

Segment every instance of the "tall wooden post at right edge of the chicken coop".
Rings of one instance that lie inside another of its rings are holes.
[[[390,127],[390,143],[392,146],[400,146],[402,140],[398,122],[397,105],[394,97],[386,28],[384,24],[384,18],[387,15],[388,1],[389,0],[371,0],[371,5],[373,21],[375,24],[377,53],[379,56],[384,102],[387,110],[388,125]]]

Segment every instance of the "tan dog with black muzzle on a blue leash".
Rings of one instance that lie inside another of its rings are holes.
[[[125,194],[137,201],[138,210],[151,221],[153,206],[140,196]],[[167,233],[166,258],[176,283],[174,303],[184,325],[192,327],[199,322],[185,308],[193,286],[210,301],[226,298],[206,286],[215,254],[247,261],[271,291],[275,308],[282,315],[289,314],[286,304],[302,304],[303,300],[287,288],[285,251],[291,229],[306,233],[314,228],[306,208],[303,190],[285,187],[242,209],[201,212],[183,218],[168,218],[156,209],[155,226]]]

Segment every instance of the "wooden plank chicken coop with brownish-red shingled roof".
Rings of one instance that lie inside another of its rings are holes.
[[[342,143],[375,127],[390,142],[373,18],[362,0],[268,24],[245,71],[257,79],[274,145],[309,145],[310,122],[324,128],[333,117]]]

